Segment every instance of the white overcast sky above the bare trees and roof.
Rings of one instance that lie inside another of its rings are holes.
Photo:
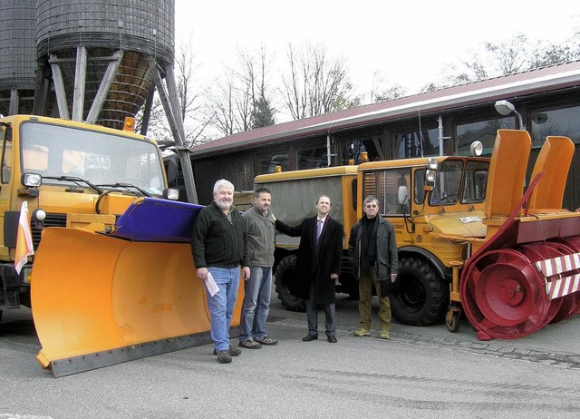
[[[380,71],[410,94],[483,42],[521,33],[557,43],[580,28],[580,2],[569,0],[175,0],[175,8],[176,44],[193,37],[201,73],[235,63],[237,47],[265,44],[282,60],[288,43],[322,43],[346,59],[357,90],[370,91]]]

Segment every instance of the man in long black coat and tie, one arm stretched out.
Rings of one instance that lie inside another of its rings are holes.
[[[304,342],[318,339],[318,305],[324,305],[326,338],[336,343],[335,281],[341,272],[343,254],[343,225],[328,214],[331,200],[322,195],[316,200],[316,216],[309,217],[296,227],[286,226],[279,219],[275,228],[291,237],[300,237],[296,255],[296,280],[300,294],[306,299],[308,335]]]

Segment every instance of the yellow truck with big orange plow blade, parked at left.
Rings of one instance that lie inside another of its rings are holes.
[[[32,307],[38,362],[62,376],[210,342],[189,244],[202,207],[167,189],[156,142],[32,115],[0,128],[0,310]],[[24,201],[34,255],[17,273]]]

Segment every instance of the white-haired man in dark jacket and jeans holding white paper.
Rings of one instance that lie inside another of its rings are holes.
[[[241,351],[229,345],[229,325],[234,313],[239,287],[239,268],[244,279],[250,278],[250,259],[244,219],[232,205],[234,185],[218,180],[214,185],[214,201],[199,211],[193,223],[191,251],[198,268],[198,278],[218,286],[215,295],[208,290],[210,334],[218,362],[232,362]]]

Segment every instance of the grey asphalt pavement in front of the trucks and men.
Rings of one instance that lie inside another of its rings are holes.
[[[580,317],[517,340],[479,341],[465,319],[393,323],[379,338],[355,337],[357,302],[337,301],[337,338],[304,343],[304,313],[273,298],[268,333],[277,346],[244,349],[218,364],[211,345],[53,378],[34,359],[30,310],[0,325],[0,419],[68,418],[573,418],[580,412]],[[324,312],[320,312],[324,325]],[[232,339],[237,345],[237,339]]]

